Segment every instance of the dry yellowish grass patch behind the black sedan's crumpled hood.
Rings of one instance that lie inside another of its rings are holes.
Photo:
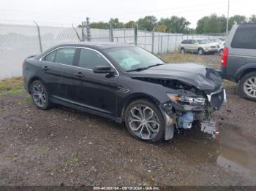
[[[198,55],[193,54],[184,54],[181,55],[178,52],[175,52],[174,54],[162,54],[159,55],[159,58],[161,58],[166,63],[184,63],[184,62],[193,62],[193,63],[203,63],[204,60]]]

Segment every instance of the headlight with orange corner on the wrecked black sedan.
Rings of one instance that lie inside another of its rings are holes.
[[[187,97],[183,95],[176,95],[172,93],[167,93],[167,96],[170,98],[171,101],[181,104],[189,104],[192,106],[203,106],[206,104],[206,98],[200,97]]]

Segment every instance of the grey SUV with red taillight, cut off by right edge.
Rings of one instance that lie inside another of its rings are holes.
[[[233,26],[222,53],[222,75],[238,82],[244,98],[256,101],[256,23]]]

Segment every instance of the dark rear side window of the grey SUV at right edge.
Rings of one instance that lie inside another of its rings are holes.
[[[256,25],[238,26],[231,42],[233,48],[256,49]]]

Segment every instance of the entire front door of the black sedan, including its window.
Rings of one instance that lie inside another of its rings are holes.
[[[109,61],[97,50],[80,49],[72,101],[105,114],[116,115],[117,79],[113,74],[96,74],[95,66],[110,66]]]

